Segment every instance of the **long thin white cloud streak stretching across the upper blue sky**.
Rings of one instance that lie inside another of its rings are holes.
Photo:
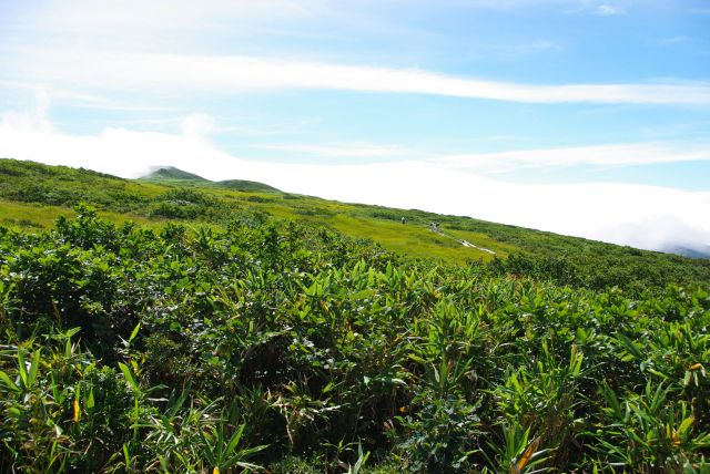
[[[710,83],[536,85],[458,78],[417,69],[344,65],[257,56],[203,56],[111,51],[28,50],[10,69],[14,81],[81,91],[236,94],[326,89],[445,95],[523,103],[709,105]]]

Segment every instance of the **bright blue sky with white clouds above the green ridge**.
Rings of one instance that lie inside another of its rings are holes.
[[[710,250],[710,2],[0,0],[0,157]]]

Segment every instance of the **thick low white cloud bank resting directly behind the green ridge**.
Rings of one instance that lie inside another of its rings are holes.
[[[278,165],[241,159],[184,135],[124,128],[69,135],[9,120],[0,123],[0,156],[126,177],[173,165],[211,179],[252,179],[325,198],[468,215],[646,248],[710,243],[710,193],[623,184],[516,185],[420,161]]]

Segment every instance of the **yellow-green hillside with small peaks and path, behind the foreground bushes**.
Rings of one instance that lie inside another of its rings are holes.
[[[493,262],[501,274],[577,287],[619,286],[640,291],[669,281],[691,286],[710,281],[708,259],[468,217],[287,194],[262,183],[215,183],[172,167],[155,169],[141,179],[122,179],[87,169],[0,159],[0,225],[6,226],[48,227],[87,203],[113,221],[134,220],[151,228],[168,221],[213,226],[239,220],[302,223],[368,239],[408,257],[455,265]],[[438,231],[433,231],[433,223],[438,224]]]

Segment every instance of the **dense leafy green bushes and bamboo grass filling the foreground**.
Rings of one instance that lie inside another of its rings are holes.
[[[0,471],[710,472],[708,292],[501,274],[295,224],[0,228]]]

